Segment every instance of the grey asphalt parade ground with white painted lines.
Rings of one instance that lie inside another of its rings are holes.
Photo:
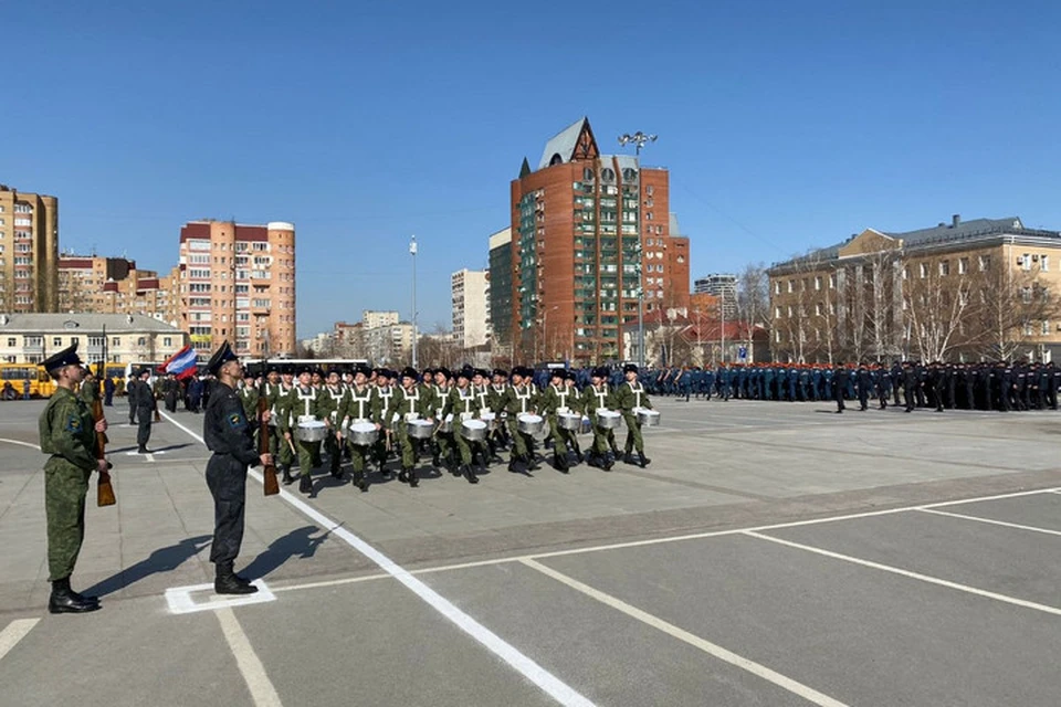
[[[1057,412],[655,402],[644,469],[254,476],[262,591],[219,598],[201,415],[141,456],[118,401],[85,615],[45,610],[43,403],[0,404],[0,705],[1061,705]]]

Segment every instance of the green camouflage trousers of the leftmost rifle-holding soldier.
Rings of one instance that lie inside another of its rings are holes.
[[[77,468],[60,456],[44,464],[44,515],[48,518],[48,574],[66,579],[85,539],[85,495],[91,471]]]

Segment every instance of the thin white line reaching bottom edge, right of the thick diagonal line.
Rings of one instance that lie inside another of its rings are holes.
[[[815,705],[822,705],[822,707],[845,707],[844,703],[833,699],[832,697],[829,697],[826,694],[819,693],[812,687],[808,687],[807,685],[803,685],[802,683],[794,680],[790,677],[781,675],[776,671],[771,671],[770,668],[766,667],[760,663],[756,663],[755,661],[750,661],[742,655],[737,655],[732,651],[727,651],[726,648],[722,647],[716,643],[712,643],[711,641],[707,641],[693,633],[690,633],[684,629],[675,626],[674,624],[669,623],[663,619],[660,619],[659,616],[650,614],[645,611],[642,611],[637,606],[628,604],[627,602],[622,601],[621,599],[617,599],[611,594],[606,594],[605,592],[598,589],[593,589],[589,584],[584,584],[577,579],[568,577],[563,572],[557,572],[550,567],[546,567],[545,564],[535,562],[532,559],[524,559],[521,561],[523,562],[523,564],[529,567],[530,569],[537,570],[547,577],[551,577],[553,579],[560,582],[561,584],[566,584],[567,587],[570,587],[571,589],[579,591],[591,599],[596,599],[597,601],[599,601],[605,605],[611,606],[617,611],[621,611],[628,616],[637,619],[641,623],[648,624],[653,629],[658,629],[663,633],[674,639],[677,639],[683,643],[687,643],[689,645],[695,648],[700,648],[704,653],[713,657],[716,657],[719,661],[723,661],[724,663],[728,663],[729,665],[734,665],[743,671],[747,671],[748,673],[752,673],[757,677],[760,677],[769,683],[773,683],[778,687],[787,689],[794,695],[798,695],[799,697],[802,697],[807,701],[813,703]]]

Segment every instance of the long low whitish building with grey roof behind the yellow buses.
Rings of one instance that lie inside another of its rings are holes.
[[[182,349],[189,337],[178,328],[141,315],[0,314],[0,361],[40,363],[77,344],[86,362],[157,362]]]

